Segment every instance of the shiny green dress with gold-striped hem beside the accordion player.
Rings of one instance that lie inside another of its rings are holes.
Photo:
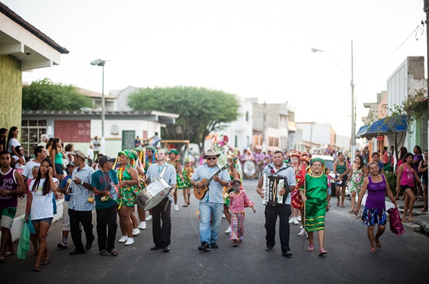
[[[307,202],[305,202],[305,231],[325,230],[325,215],[328,191],[328,179],[326,175],[312,177],[305,175],[305,188]],[[303,188],[300,188],[303,190]]]

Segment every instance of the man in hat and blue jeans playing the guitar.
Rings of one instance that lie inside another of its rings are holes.
[[[202,188],[204,183],[203,179],[210,179],[220,168],[217,165],[217,154],[214,150],[210,149],[203,156],[207,163],[199,166],[195,170],[194,175],[191,177],[192,186]],[[221,219],[223,212],[223,186],[229,186],[230,176],[228,171],[223,170],[219,175],[215,175],[209,185],[209,190],[203,198],[199,201],[200,221],[199,221],[199,235],[201,245],[198,247],[199,251],[210,251],[210,248],[217,249],[217,233],[221,227]],[[210,216],[212,224],[210,226]]]

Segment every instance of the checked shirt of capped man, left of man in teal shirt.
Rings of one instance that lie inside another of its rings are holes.
[[[77,177],[78,179],[86,182],[86,184],[91,184],[93,172],[93,168],[90,168],[89,166],[85,165],[82,170],[79,170],[79,168],[75,168],[75,170],[73,170],[71,178],[75,179]],[[70,188],[71,196],[69,209],[73,209],[75,211],[94,210],[95,203],[88,202],[88,197],[90,197],[91,195],[93,196],[92,190],[89,190],[88,188],[81,186],[80,184],[75,184],[74,181],[71,181]]]

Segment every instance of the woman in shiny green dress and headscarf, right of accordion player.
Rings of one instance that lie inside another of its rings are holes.
[[[327,254],[323,248],[325,242],[325,215],[329,211],[328,206],[328,179],[323,174],[325,160],[311,159],[311,172],[305,175],[304,188],[300,188],[302,202],[304,202],[305,231],[309,234],[308,251],[314,251],[313,232],[318,232],[319,254]]]

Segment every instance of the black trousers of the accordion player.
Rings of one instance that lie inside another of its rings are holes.
[[[277,216],[280,217],[280,245],[282,251],[290,251],[289,247],[289,216],[291,215],[291,206],[289,204],[265,206],[265,229],[266,245],[274,247],[275,245],[275,222]]]

